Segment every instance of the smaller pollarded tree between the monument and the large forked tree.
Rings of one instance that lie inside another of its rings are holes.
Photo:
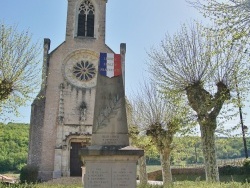
[[[170,97],[170,96],[169,96]],[[170,154],[175,134],[188,124],[187,106],[175,96],[167,98],[155,83],[144,83],[131,99],[133,118],[139,131],[145,131],[160,154],[163,184],[172,182]]]

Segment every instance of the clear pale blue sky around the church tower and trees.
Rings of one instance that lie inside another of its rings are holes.
[[[1,0],[0,22],[18,25],[19,30],[28,29],[33,41],[39,41],[41,46],[44,38],[50,38],[52,51],[65,40],[67,2]],[[190,23],[193,19],[204,21],[202,15],[185,0],[108,0],[106,15],[106,44],[116,53],[120,51],[120,43],[127,45],[127,95],[149,76],[146,62],[151,47],[157,47],[166,33],[173,34],[183,23]],[[30,103],[20,112],[21,117],[12,117],[13,121],[29,123]],[[250,126],[247,116],[245,124]]]

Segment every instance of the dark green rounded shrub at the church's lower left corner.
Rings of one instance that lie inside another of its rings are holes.
[[[21,169],[20,182],[21,183],[36,183],[38,178],[38,167],[33,165],[26,165]]]

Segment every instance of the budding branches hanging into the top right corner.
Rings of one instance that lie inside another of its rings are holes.
[[[249,0],[187,0],[205,17],[211,18],[217,29],[233,34],[239,39],[250,34]]]

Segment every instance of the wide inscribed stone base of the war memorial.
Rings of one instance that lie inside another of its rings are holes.
[[[80,150],[84,188],[136,188],[136,163],[144,151],[130,146],[89,146]]]

